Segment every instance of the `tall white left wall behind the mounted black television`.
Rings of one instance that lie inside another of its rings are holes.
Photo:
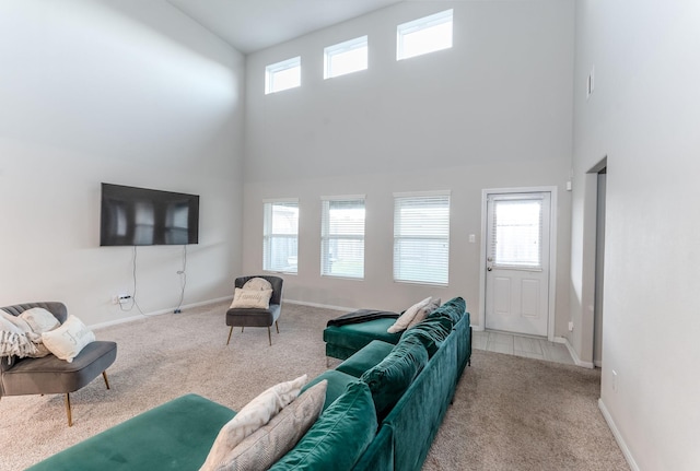
[[[0,2],[0,305],[122,313],[132,249],[98,239],[101,181],[200,195],[184,304],[241,267],[244,58],[165,1]],[[179,301],[183,247],[138,249],[144,313]]]

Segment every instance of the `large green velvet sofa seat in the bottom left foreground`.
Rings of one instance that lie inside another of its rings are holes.
[[[235,412],[197,395],[174,399],[28,468],[31,471],[198,470]]]

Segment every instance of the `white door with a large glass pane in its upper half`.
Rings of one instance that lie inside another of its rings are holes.
[[[487,198],[486,328],[547,337],[551,193]]]

